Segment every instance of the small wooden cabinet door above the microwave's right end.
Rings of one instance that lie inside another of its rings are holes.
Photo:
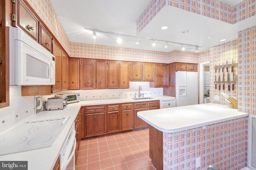
[[[52,52],[52,36],[46,29],[40,24],[39,28],[39,43],[48,51]]]

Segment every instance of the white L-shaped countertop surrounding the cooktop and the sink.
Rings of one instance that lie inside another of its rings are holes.
[[[28,161],[28,170],[51,170],[54,167],[54,164],[64,145],[63,142],[67,139],[68,132],[72,124],[74,123],[74,120],[81,106],[116,104],[116,103],[127,103],[127,102],[142,102],[142,101],[152,101],[152,100],[162,100],[162,99],[174,99],[174,97],[152,96],[151,99],[143,99],[143,100],[134,100],[132,98],[88,100],[88,101],[80,101],[77,103],[68,104],[68,106],[63,110],[41,111],[36,115],[31,115],[27,117],[26,120],[24,121],[50,119],[50,118],[57,118],[57,117],[70,117],[62,133],[60,134],[58,139],[56,139],[52,147],[0,156],[0,161]],[[20,123],[23,123],[24,121]]]

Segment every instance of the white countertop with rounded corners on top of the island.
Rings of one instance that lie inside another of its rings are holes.
[[[240,112],[225,105],[208,103],[140,111],[137,115],[159,131],[174,133],[246,117],[248,113]]]

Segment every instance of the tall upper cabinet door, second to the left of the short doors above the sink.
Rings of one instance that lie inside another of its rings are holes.
[[[118,88],[119,64],[117,61],[108,61],[108,88]]]

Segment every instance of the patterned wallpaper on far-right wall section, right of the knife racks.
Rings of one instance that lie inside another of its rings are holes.
[[[238,33],[238,111],[256,114],[256,26]]]

